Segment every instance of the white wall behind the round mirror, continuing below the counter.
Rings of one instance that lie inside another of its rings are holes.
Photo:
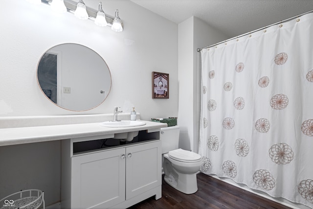
[[[99,1],[85,3],[97,9]],[[119,9],[123,32],[78,20],[68,12],[54,14],[45,4],[1,0],[0,116],[112,113],[114,106],[124,111],[135,107],[145,120],[178,116],[178,25],[129,0],[106,0],[103,8],[111,17]],[[111,93],[92,110],[62,109],[39,89],[39,59],[52,46],[64,43],[91,48],[111,70]],[[152,99],[152,71],[170,74],[169,99]],[[3,146],[0,159],[0,198],[38,188],[45,191],[46,205],[60,201],[60,141]]]

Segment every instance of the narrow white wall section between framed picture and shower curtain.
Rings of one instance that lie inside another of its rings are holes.
[[[198,152],[201,65],[197,48],[209,46],[230,37],[199,18],[179,23],[179,146]],[[198,70],[199,66],[199,70]]]

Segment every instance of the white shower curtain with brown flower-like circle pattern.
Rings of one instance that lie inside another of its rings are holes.
[[[201,172],[313,208],[313,13],[201,50]]]

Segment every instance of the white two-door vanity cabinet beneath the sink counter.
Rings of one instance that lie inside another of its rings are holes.
[[[72,143],[69,139],[62,144],[64,154],[73,150]],[[62,186],[66,188],[61,188],[61,208],[121,209],[154,195],[161,198],[160,140],[68,157],[62,163]]]

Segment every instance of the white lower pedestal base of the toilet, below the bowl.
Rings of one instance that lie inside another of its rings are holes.
[[[196,174],[181,174],[175,179],[173,176],[164,175],[164,181],[185,194],[193,194],[198,191],[197,175]]]

